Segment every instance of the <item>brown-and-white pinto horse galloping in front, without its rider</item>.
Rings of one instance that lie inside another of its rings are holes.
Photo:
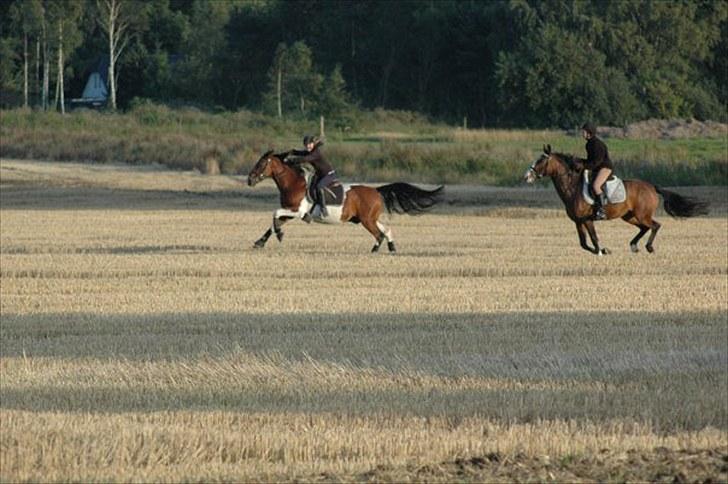
[[[260,157],[248,174],[248,185],[255,186],[266,178],[272,178],[280,192],[281,208],[273,213],[273,225],[255,242],[254,247],[263,248],[275,232],[278,241],[283,240],[282,226],[294,218],[303,218],[312,206],[306,197],[308,178],[306,173],[284,163],[284,155],[268,151]],[[392,183],[378,188],[364,185],[345,186],[341,205],[328,205],[328,215],[323,217],[318,207],[314,208],[313,220],[320,223],[361,223],[374,236],[376,243],[372,252],[379,250],[387,239],[390,252],[395,251],[392,231],[379,221],[386,208],[389,213],[421,213],[439,201],[443,187],[422,190],[409,183]]]

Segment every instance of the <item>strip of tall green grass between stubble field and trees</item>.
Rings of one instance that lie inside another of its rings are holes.
[[[203,173],[247,173],[267,149],[300,145],[315,123],[249,111],[219,114],[140,103],[125,114],[62,116],[3,111],[3,157],[92,163],[157,163]],[[562,131],[463,130],[413,113],[375,110],[356,129],[328,132],[327,157],[347,180],[513,186],[543,144],[583,155],[584,142]],[[725,138],[609,139],[617,173],[659,185],[728,184]]]

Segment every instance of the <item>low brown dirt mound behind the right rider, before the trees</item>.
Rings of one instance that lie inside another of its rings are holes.
[[[682,139],[719,138],[728,136],[728,124],[697,119],[650,119],[629,124],[623,128],[603,126],[598,128],[605,138],[629,139]]]

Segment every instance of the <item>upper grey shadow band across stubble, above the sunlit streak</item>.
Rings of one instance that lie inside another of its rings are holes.
[[[186,359],[230,351],[280,353],[357,366],[417,368],[450,376],[580,378],[574,355],[613,360],[609,370],[728,364],[722,312],[504,312],[111,314],[3,313],[0,356]],[[422,354],[423,351],[427,354]],[[653,357],[654,356],[654,357]],[[552,361],[553,360],[553,361]],[[552,364],[545,364],[551,362]],[[566,364],[568,363],[568,364]],[[713,364],[711,363],[711,364]],[[717,368],[717,367],[716,367]]]

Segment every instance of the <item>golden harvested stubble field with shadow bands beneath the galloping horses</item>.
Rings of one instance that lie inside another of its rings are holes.
[[[553,189],[252,243],[270,182],[0,162],[0,481],[728,479],[728,192],[657,252]]]

